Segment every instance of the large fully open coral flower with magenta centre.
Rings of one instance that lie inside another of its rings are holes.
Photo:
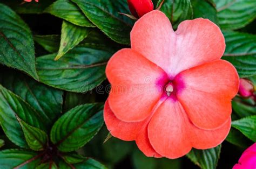
[[[111,135],[135,140],[149,157],[178,158],[192,147],[219,145],[231,128],[235,68],[220,60],[225,40],[208,19],[173,31],[163,12],[151,11],[131,31],[131,48],[106,67],[111,92],[104,119]]]

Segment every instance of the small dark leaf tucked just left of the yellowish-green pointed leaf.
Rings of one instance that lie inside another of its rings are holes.
[[[35,35],[34,40],[48,52],[54,53],[59,50],[60,36],[57,34]]]

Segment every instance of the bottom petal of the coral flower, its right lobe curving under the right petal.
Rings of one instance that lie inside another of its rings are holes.
[[[231,128],[231,118],[215,130],[199,129],[190,122],[178,101],[167,99],[154,113],[148,127],[153,149],[161,156],[179,158],[192,147],[210,149],[223,142]]]

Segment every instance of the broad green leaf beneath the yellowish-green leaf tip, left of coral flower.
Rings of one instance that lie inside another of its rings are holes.
[[[84,93],[105,80],[105,66],[114,52],[93,34],[58,61],[53,60],[56,54],[37,58],[39,79],[52,87]]]

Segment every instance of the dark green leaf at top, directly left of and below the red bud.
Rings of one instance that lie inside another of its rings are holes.
[[[126,0],[72,0],[100,30],[120,44],[130,45],[133,20],[118,12],[130,13]]]

